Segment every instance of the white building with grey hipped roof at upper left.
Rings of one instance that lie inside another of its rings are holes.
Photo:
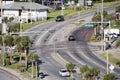
[[[35,2],[13,2],[6,4],[2,8],[2,17],[14,17],[23,22],[46,20],[47,6]]]

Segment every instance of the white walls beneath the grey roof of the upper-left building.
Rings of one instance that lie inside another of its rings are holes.
[[[31,13],[31,16],[28,15],[28,13]],[[19,11],[13,11],[13,10],[4,10],[3,12],[4,17],[19,17]],[[46,20],[47,19],[47,11],[41,10],[41,11],[26,11],[25,15],[21,15],[21,20],[24,19],[25,22],[28,21],[28,19],[32,19],[34,21],[37,20]],[[23,22],[24,22],[23,21]]]

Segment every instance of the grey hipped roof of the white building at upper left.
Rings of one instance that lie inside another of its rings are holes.
[[[24,7],[25,10],[41,10],[41,9],[50,9],[50,7],[40,5],[35,2],[13,2],[3,6],[3,9],[11,9],[11,10],[21,10]]]

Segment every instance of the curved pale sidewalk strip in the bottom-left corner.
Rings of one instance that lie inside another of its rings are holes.
[[[17,80],[28,80],[27,78],[24,78],[23,76],[21,76],[20,73],[16,72],[13,69],[9,69],[9,68],[5,68],[5,67],[1,67],[0,69],[7,72],[8,74],[12,75],[13,77],[15,77]]]

